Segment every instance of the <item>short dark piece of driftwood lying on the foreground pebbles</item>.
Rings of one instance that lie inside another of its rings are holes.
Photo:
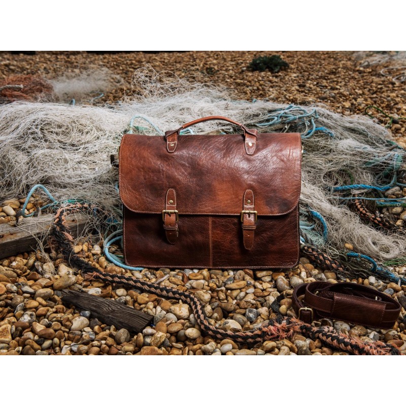
[[[62,290],[62,301],[73,304],[76,308],[90,311],[92,317],[116,328],[126,328],[132,332],[142,332],[151,324],[152,316],[117,303],[115,300],[89,295],[74,290]]]

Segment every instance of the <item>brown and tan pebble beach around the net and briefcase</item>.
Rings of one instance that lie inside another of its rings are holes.
[[[258,55],[279,54],[289,63],[276,74],[252,72],[248,65]],[[266,98],[284,104],[321,103],[344,115],[365,114],[369,105],[406,117],[404,85],[383,76],[381,71],[391,61],[365,64],[351,52],[161,52],[88,54],[85,52],[38,52],[36,55],[0,53],[0,80],[10,75],[35,74],[45,79],[61,72],[79,73],[103,66],[121,78],[113,89],[95,101],[116,103],[134,94],[131,76],[148,63],[156,70],[171,70],[179,77],[189,77],[226,86],[235,98]],[[382,118],[382,125],[387,119]],[[406,147],[406,119],[399,119],[389,130],[394,140]],[[389,198],[406,196],[406,188],[394,187]],[[0,225],[13,226],[25,196],[2,200]],[[26,214],[36,212],[47,200],[33,195]],[[397,226],[406,221],[406,211],[383,209]],[[292,309],[293,289],[302,283],[327,281],[353,282],[370,286],[393,297],[402,305],[392,329],[371,329],[342,321],[321,319],[313,325],[332,326],[337,331],[364,342],[383,341],[406,355],[406,286],[384,283],[378,277],[348,279],[315,266],[301,257],[288,270],[251,269],[123,269],[108,261],[102,244],[85,236],[75,241],[74,252],[104,272],[157,282],[195,295],[209,322],[227,331],[248,331],[275,319],[278,314],[297,317]],[[119,252],[118,246],[112,246]],[[352,250],[350,242],[340,249]],[[0,255],[1,256],[1,255]],[[392,272],[406,275],[406,266]],[[125,328],[94,318],[89,311],[67,306],[62,290],[70,289],[115,300],[153,318],[151,326],[133,333]],[[0,355],[348,355],[333,351],[320,340],[298,333],[283,340],[265,341],[254,346],[215,340],[200,331],[188,304],[166,300],[140,290],[84,280],[80,269],[72,268],[52,245],[45,253],[28,251],[0,259]]]

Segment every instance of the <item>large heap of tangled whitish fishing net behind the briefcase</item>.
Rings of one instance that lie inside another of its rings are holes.
[[[313,121],[294,120],[281,116],[286,110],[297,115],[316,114]],[[0,196],[24,196],[32,185],[41,183],[58,200],[92,201],[119,218],[120,200],[115,188],[118,173],[110,165],[109,155],[117,152],[131,118],[138,117],[134,119],[134,132],[154,136],[211,115],[230,117],[262,132],[281,132],[281,137],[283,132],[302,133],[300,205],[324,217],[327,251],[351,242],[360,252],[379,260],[406,254],[406,241],[399,234],[364,224],[332,191],[334,186],[350,183],[349,173],[358,184],[381,181],[382,172],[393,167],[394,159],[387,129],[367,117],[335,114],[322,105],[292,107],[266,100],[237,100],[225,88],[158,73],[149,66],[136,71],[132,95],[116,105],[16,101],[0,106],[0,172],[4,180]],[[191,130],[232,133],[235,127],[209,121]],[[396,154],[403,159],[403,150],[396,150]]]

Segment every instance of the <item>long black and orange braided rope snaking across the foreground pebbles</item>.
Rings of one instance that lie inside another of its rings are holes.
[[[207,318],[204,307],[200,301],[190,293],[182,292],[167,286],[160,286],[155,283],[146,282],[140,279],[124,275],[109,274],[93,267],[84,259],[74,253],[72,242],[73,236],[67,226],[66,216],[78,210],[94,210],[95,207],[86,203],[74,203],[65,207],[60,207],[54,219],[53,236],[59,244],[62,254],[72,265],[81,268],[82,274],[86,280],[98,279],[107,283],[117,283],[140,289],[168,299],[182,300],[189,304],[197,324],[202,331],[208,335],[219,339],[230,339],[236,343],[255,344],[266,340],[283,339],[291,337],[295,333],[301,332],[313,339],[319,339],[325,345],[337,350],[347,351],[355,355],[398,355],[399,351],[393,346],[381,342],[366,343],[360,340],[350,338],[341,332],[337,332],[331,327],[320,326],[313,327],[310,324],[301,322],[293,317],[277,316],[276,319],[269,320],[267,325],[250,331],[225,331],[213,326]],[[334,261],[333,261],[334,262]]]

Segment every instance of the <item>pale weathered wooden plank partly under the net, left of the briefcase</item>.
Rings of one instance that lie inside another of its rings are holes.
[[[35,250],[38,239],[52,226],[53,215],[22,218],[17,226],[0,224],[0,258],[15,255],[24,251]],[[74,237],[85,228],[87,218],[82,213],[67,216],[67,222]],[[52,230],[51,230],[52,231]]]

